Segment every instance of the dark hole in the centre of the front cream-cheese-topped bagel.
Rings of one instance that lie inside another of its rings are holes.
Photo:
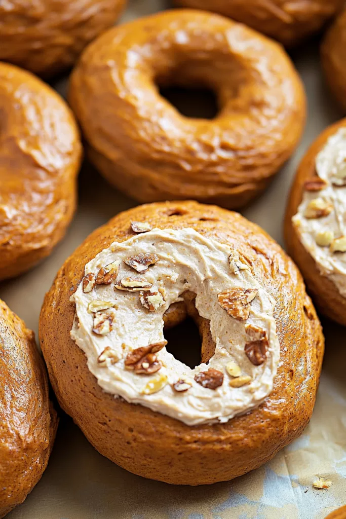
[[[190,317],[169,330],[165,330],[164,338],[168,340],[167,351],[178,361],[192,370],[201,363],[201,339],[195,321]]]

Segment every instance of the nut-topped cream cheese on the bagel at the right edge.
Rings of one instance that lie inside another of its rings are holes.
[[[321,274],[346,297],[346,128],[329,137],[315,163],[320,188],[306,183],[292,222]]]

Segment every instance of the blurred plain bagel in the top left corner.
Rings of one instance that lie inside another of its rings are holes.
[[[114,24],[124,4],[125,0],[0,2],[0,60],[44,77],[62,72]]]

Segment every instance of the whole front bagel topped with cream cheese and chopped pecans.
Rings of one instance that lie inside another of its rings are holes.
[[[185,310],[170,325],[187,312],[199,326],[194,369],[164,346],[171,303]],[[92,445],[135,474],[188,485],[240,476],[295,439],[324,349],[279,245],[194,201],[140,206],[95,230],[58,272],[39,334],[60,405]]]

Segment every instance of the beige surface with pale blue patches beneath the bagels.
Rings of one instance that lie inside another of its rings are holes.
[[[122,20],[168,7],[161,0],[133,0]],[[309,117],[293,158],[244,215],[283,244],[282,222],[292,177],[310,142],[342,117],[326,90],[319,40],[293,59],[308,93]],[[65,81],[55,85],[61,92]],[[133,200],[110,188],[87,164],[79,180],[78,212],[66,238],[48,260],[0,286],[0,297],[37,335],[44,293],[77,245]],[[323,321],[326,354],[319,395],[303,435],[260,469],[237,480],[202,487],[174,487],[135,476],[102,457],[72,420],[61,416],[48,469],[24,504],[8,519],[323,519],[346,503],[346,348],[344,329]],[[322,476],[328,490],[312,488]]]

